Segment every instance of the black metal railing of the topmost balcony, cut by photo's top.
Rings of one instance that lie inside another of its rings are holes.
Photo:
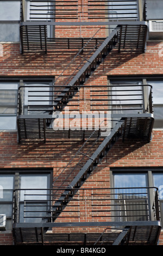
[[[22,21],[26,20],[24,7],[26,3],[22,0]],[[118,11],[115,20],[138,20],[139,19],[139,0],[116,1],[116,3],[108,0],[97,1],[89,0],[88,3],[80,3],[79,1],[64,1],[64,8],[61,1],[51,2],[45,1],[38,4],[39,1],[30,1],[30,20],[78,20],[81,15],[84,19],[113,19],[109,17],[110,11]],[[120,2],[120,3],[118,3]],[[37,4],[35,4],[37,3]],[[51,5],[49,5],[51,4]],[[48,9],[49,6],[51,9]],[[142,2],[143,6],[143,2]],[[88,10],[85,11],[85,8]],[[125,12],[124,12],[124,11]],[[50,12],[49,12],[50,11]],[[48,13],[49,12],[49,13]],[[52,17],[52,13],[54,17]],[[41,15],[41,16],[40,16]],[[39,17],[38,17],[39,16]],[[143,11],[143,16],[145,12]],[[144,17],[144,19],[146,19]]]

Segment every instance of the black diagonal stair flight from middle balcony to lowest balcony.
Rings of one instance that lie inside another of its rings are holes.
[[[79,173],[72,180],[70,185],[67,186],[57,202],[55,202],[53,206],[53,221],[55,221],[61,211],[64,210],[67,203],[70,202],[73,195],[78,191],[78,188],[84,184],[85,180],[90,176],[96,166],[102,161],[103,157],[116,143],[117,139],[122,136],[123,124],[124,119],[122,118],[111,130],[110,134],[104,138],[103,142],[98,146],[92,156],[89,157],[89,160],[87,160],[84,166],[80,169]]]

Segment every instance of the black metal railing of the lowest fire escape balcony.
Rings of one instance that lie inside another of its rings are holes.
[[[158,188],[66,188],[14,191],[14,223],[53,222],[54,204],[69,191],[66,208],[57,209],[61,222],[160,221]],[[62,202],[64,204],[64,202]],[[109,225],[109,224],[108,224]]]

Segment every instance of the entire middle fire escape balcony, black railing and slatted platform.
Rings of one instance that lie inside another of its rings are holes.
[[[77,74],[76,83],[79,83],[78,80]],[[83,92],[87,92],[87,96],[84,96],[81,105],[80,95],[83,95]],[[86,110],[80,110],[81,106]],[[74,110],[75,114],[73,114]],[[91,119],[88,114],[91,114]],[[59,128],[53,126],[53,121],[58,117],[61,117],[59,123],[61,127]],[[76,117],[79,119],[80,125],[72,127],[70,121],[75,120]],[[125,120],[123,139],[137,138],[150,141],[154,123],[151,86],[122,84],[108,87],[81,84],[73,87],[67,85],[58,87],[23,86],[18,90],[17,130],[19,142],[29,139],[44,142],[56,138],[85,139],[90,135],[92,138],[97,138],[101,136],[102,132],[99,125],[101,120],[107,119],[111,128],[115,126],[116,121],[122,118]],[[91,127],[89,126],[90,121],[92,121]],[[99,128],[93,125],[97,124],[97,121]],[[106,129],[104,129],[105,127],[103,127],[105,132]]]

